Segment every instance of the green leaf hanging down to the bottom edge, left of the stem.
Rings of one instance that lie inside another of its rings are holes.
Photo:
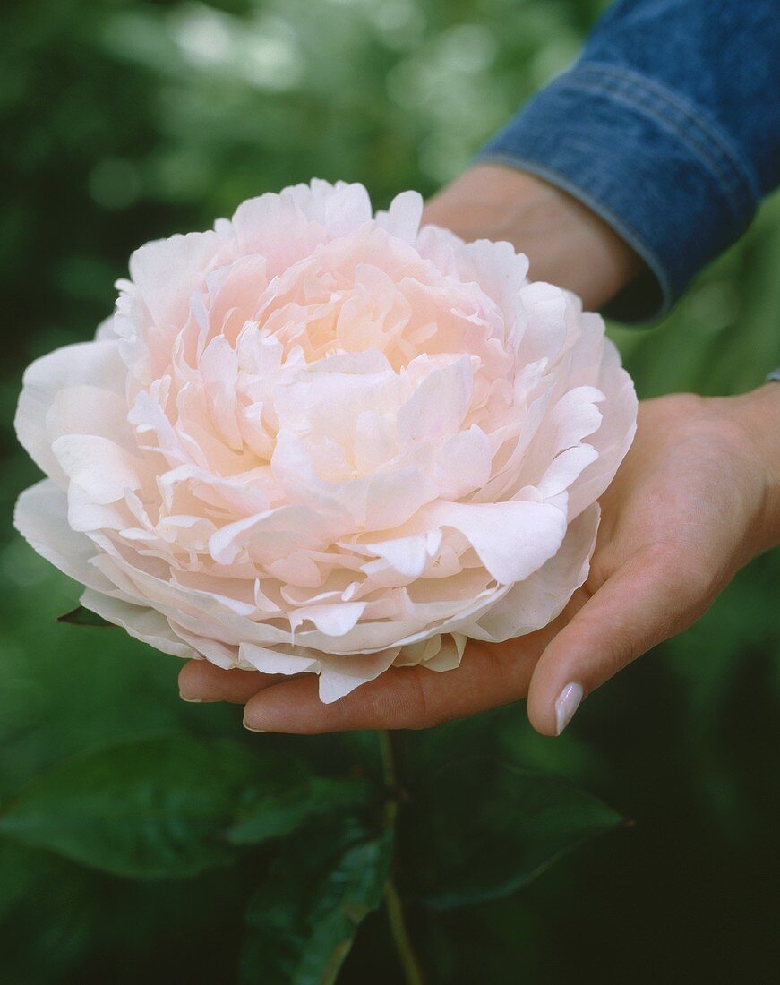
[[[357,927],[387,882],[393,832],[340,825],[298,836],[249,901],[241,956],[244,985],[333,985]]]

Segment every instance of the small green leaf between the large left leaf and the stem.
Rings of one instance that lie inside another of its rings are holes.
[[[227,837],[234,845],[258,844],[291,834],[313,818],[354,811],[374,800],[373,788],[364,780],[299,777],[292,784],[258,790],[257,800],[241,810]]]

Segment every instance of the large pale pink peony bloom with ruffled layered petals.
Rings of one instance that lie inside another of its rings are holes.
[[[18,529],[165,653],[333,701],[584,581],[636,398],[596,314],[509,243],[286,188],[150,242],[93,342],[32,363]]]

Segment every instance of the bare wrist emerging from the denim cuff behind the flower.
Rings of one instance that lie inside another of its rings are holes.
[[[639,257],[601,217],[535,175],[477,164],[439,192],[423,221],[464,239],[506,239],[527,254],[529,275],[598,308],[631,281]]]

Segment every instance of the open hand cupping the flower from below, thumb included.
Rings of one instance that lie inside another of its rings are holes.
[[[245,705],[258,732],[426,728],[527,697],[556,735],[581,696],[694,623],[756,554],[780,542],[780,386],[743,397],[690,394],[640,405],[634,443],[602,497],[590,575],[552,624],[470,641],[443,674],[392,668],[333,704],[312,675],[269,677],[191,661],[187,700]]]

